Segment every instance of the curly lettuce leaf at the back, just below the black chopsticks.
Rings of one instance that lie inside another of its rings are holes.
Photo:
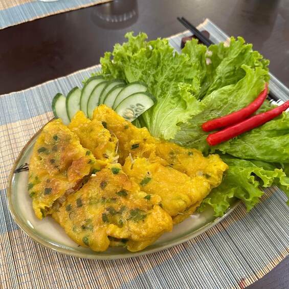
[[[201,89],[196,95],[197,99],[203,99],[221,87],[237,83],[246,74],[242,65],[265,70],[267,73],[264,80],[269,80],[269,60],[252,50],[252,44],[246,44],[242,37],[231,37],[230,45],[226,46],[226,43],[221,42],[208,49],[198,45],[196,41],[188,41],[182,52],[189,55],[193,63],[197,63],[200,72]]]

